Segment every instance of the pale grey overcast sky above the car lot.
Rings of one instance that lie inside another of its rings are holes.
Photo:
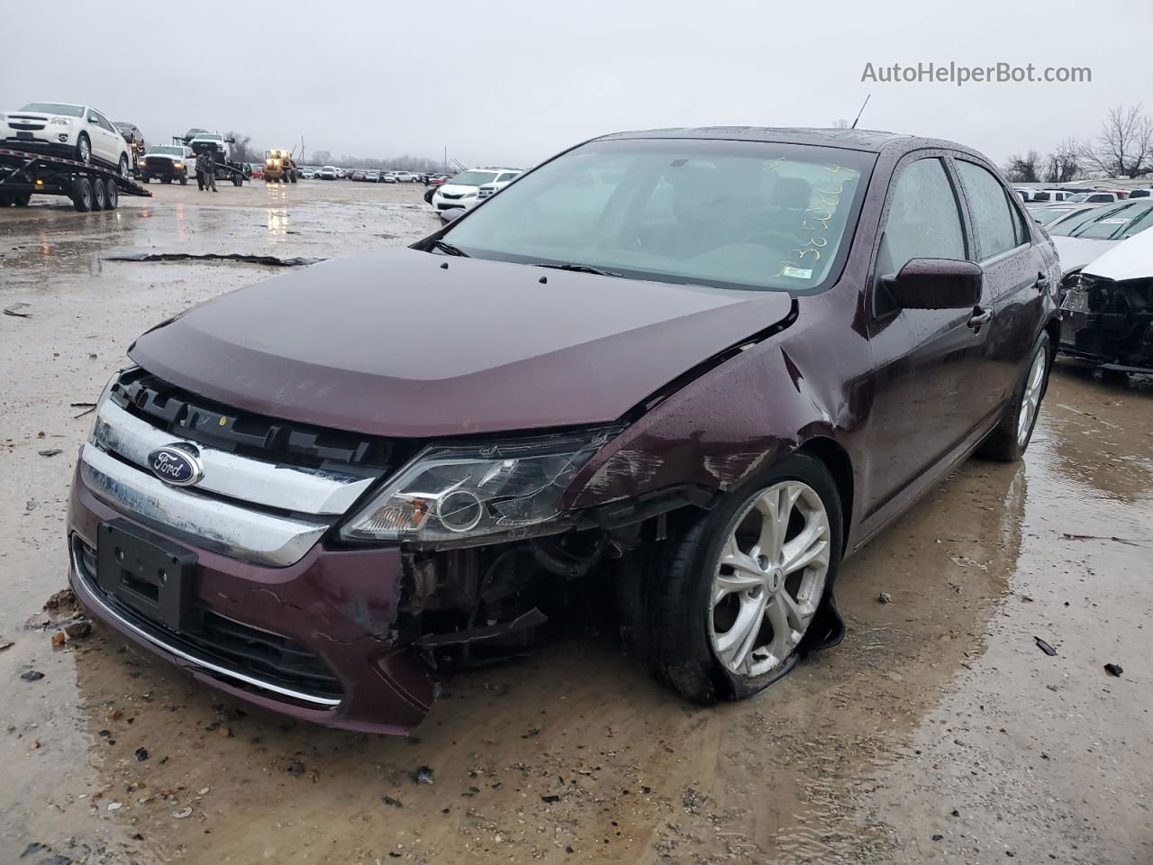
[[[927,0],[435,3],[0,0],[0,108],[86,103],[150,143],[193,126],[261,148],[532,165],[663,126],[860,126],[1003,163],[1153,113],[1153,2]],[[1098,14],[1100,12],[1101,14]],[[216,27],[198,25],[206,16]],[[194,25],[195,24],[195,25]],[[867,62],[1088,66],[1087,84],[861,83]]]

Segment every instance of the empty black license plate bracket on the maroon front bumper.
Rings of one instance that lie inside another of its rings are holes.
[[[127,520],[101,522],[96,544],[97,584],[121,603],[172,631],[195,631],[197,556]]]

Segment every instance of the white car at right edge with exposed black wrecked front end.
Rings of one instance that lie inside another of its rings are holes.
[[[1153,232],[1109,247],[1063,288],[1062,354],[1113,373],[1153,373]]]

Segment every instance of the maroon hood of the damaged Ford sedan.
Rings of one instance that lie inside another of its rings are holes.
[[[194,307],[129,356],[202,397],[274,418],[453,436],[617,420],[791,308],[779,292],[394,249]]]

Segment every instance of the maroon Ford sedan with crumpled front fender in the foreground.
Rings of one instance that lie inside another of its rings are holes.
[[[412,248],[129,349],[73,490],[91,612],[240,699],[405,732],[558,597],[700,702],[841,635],[841,559],[1019,459],[1048,238],[979,153],[889,133],[575,146]]]

